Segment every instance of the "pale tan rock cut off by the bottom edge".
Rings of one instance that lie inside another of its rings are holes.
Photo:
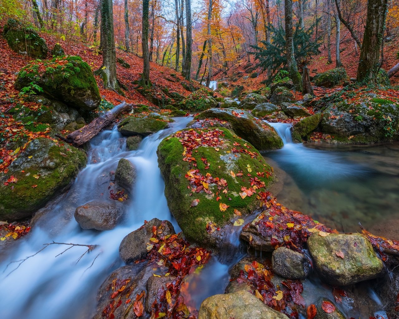
[[[288,319],[248,291],[213,295],[199,308],[198,319]]]

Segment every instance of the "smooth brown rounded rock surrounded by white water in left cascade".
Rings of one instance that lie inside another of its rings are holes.
[[[75,220],[83,229],[110,230],[123,219],[116,201],[91,201],[77,207]]]

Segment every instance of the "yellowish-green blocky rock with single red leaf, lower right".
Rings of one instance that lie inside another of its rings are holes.
[[[383,276],[384,265],[361,234],[312,234],[308,249],[319,276],[332,285],[346,286]]]

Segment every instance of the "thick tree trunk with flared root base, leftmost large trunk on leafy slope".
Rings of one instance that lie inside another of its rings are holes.
[[[98,71],[103,78],[104,87],[123,94],[117,80],[112,0],[101,0],[101,47],[103,50],[103,65]]]

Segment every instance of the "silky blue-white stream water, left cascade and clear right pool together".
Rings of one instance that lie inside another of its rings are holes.
[[[119,244],[126,234],[139,228],[144,220],[154,217],[168,219],[176,232],[180,231],[166,203],[156,149],[164,137],[186,127],[190,120],[191,117],[175,118],[169,128],[144,138],[136,151],[126,151],[126,138],[122,137],[116,126],[113,130],[101,132],[91,141],[88,164],[79,173],[67,195],[44,210],[30,234],[0,252],[3,305],[0,318],[89,319],[95,310],[99,286],[113,270],[124,265],[119,258]],[[325,220],[328,226],[338,229],[338,226],[331,224],[341,223],[342,227],[338,230],[347,230],[358,221],[368,225],[372,219],[378,218],[375,214],[383,214],[382,209],[374,211],[374,215],[372,209],[361,211],[359,203],[362,200],[372,201],[385,193],[385,197],[380,197],[380,201],[385,202],[385,214],[399,216],[394,205],[399,199],[399,165],[395,160],[399,155],[399,145],[353,147],[346,151],[334,147],[328,151],[319,150],[293,144],[290,124],[271,125],[284,140],[281,150],[264,153],[266,160],[282,172],[279,179],[284,183],[284,191],[277,195],[281,203],[308,213],[320,222]],[[75,208],[93,199],[108,197],[109,173],[115,171],[120,158],[130,160],[137,170],[133,194],[125,204],[126,220],[113,230],[82,230],[73,217]],[[384,163],[388,165],[389,160],[390,168],[384,168]],[[384,178],[389,178],[389,185],[378,189],[383,187],[379,181]],[[348,187],[352,188],[351,192],[345,195]],[[369,190],[376,194],[375,197],[371,198]],[[356,192],[358,197],[355,196]],[[340,196],[342,198],[338,199]],[[349,205],[346,208],[348,216],[344,214],[344,205]],[[370,204],[367,202],[363,205]],[[381,203],[376,202],[375,205]],[[356,211],[355,216],[350,215],[350,212],[355,213],[351,207],[356,207],[359,213]],[[241,227],[236,229],[237,232],[228,238],[229,250],[224,252],[230,258],[218,260],[212,256],[199,273],[194,272],[186,278],[189,285],[185,293],[190,294],[197,309],[206,297],[224,293],[229,283],[229,268],[247,254],[239,245]],[[43,244],[52,241],[97,244],[99,247],[85,254],[78,263],[76,261],[86,247],[72,247],[65,251],[68,246],[55,244],[35,254],[43,248]],[[20,262],[28,256],[32,257]],[[304,287],[307,303],[321,295],[332,298],[331,290],[314,276],[305,280]],[[363,314],[354,305],[342,305],[349,317],[360,314],[368,317],[371,312],[379,310],[381,303],[375,293],[367,288],[367,284],[360,285],[359,291],[354,293],[364,295],[369,300],[369,307],[364,307]]]

